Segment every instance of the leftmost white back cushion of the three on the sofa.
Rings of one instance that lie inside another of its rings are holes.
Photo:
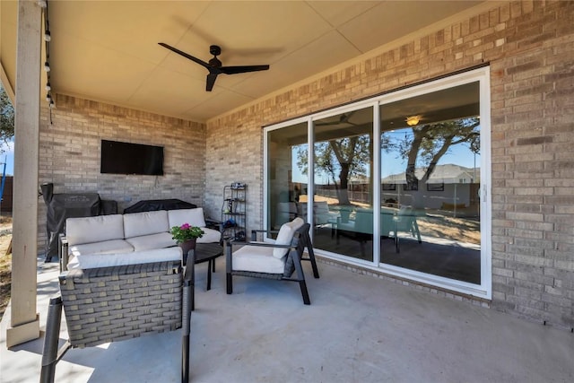
[[[123,239],[124,218],[122,214],[68,218],[65,220],[65,236],[70,246],[79,243]]]

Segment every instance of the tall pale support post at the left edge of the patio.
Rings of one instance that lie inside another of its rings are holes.
[[[42,12],[18,2],[14,126],[12,310],[6,345],[39,338],[38,263],[39,95]]]

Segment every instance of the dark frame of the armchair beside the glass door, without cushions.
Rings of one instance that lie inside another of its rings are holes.
[[[319,277],[319,272],[317,269],[317,262],[315,260],[315,253],[313,252],[313,244],[309,238],[309,223],[303,224],[293,235],[291,239],[291,245],[277,245],[272,243],[256,242],[257,233],[263,233],[267,231],[251,231],[251,242],[248,246],[254,247],[266,247],[266,248],[289,248],[289,253],[285,257],[285,265],[283,269],[283,274],[270,274],[270,273],[258,273],[248,270],[235,270],[233,269],[233,241],[226,242],[225,257],[226,257],[226,268],[227,268],[227,293],[233,293],[233,275],[239,276],[249,276],[255,278],[265,278],[273,279],[276,281],[289,281],[298,282],[300,285],[301,295],[303,296],[303,303],[309,305],[311,302],[309,300],[309,292],[307,290],[307,283],[305,283],[305,274],[303,274],[303,268],[301,266],[301,261],[309,261],[311,267],[313,268],[313,276],[315,278]],[[242,243],[245,245],[245,243]],[[303,256],[303,251],[307,248],[309,257]],[[294,275],[293,275],[294,274]]]

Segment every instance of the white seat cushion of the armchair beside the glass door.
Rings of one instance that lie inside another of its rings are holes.
[[[239,248],[233,252],[233,270],[283,274],[284,259],[274,257],[273,250],[249,245]]]

